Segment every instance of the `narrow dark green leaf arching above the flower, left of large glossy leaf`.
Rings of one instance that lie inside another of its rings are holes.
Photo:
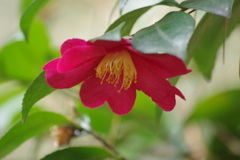
[[[174,0],[165,0],[162,2],[159,2],[155,5],[152,6],[148,6],[148,7],[143,7],[140,9],[136,9],[134,11],[128,12],[126,14],[124,14],[123,16],[121,16],[119,19],[117,19],[115,22],[113,22],[108,29],[106,30],[106,32],[116,28],[118,25],[120,25],[121,23],[125,22],[123,28],[122,28],[122,32],[121,32],[121,36],[127,36],[131,33],[132,27],[135,24],[135,22],[138,20],[139,17],[141,17],[145,12],[147,12],[150,8],[156,6],[156,5],[168,5],[168,6],[178,6],[178,3]]]

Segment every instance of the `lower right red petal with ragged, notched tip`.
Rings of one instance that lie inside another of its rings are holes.
[[[185,99],[176,87],[171,86],[163,77],[153,73],[149,64],[141,57],[134,56],[133,60],[138,74],[137,89],[151,97],[163,110],[171,111],[175,107],[175,95]]]

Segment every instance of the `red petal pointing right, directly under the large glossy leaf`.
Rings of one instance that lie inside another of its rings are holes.
[[[172,78],[191,72],[186,68],[184,62],[176,56],[170,54],[143,54],[136,51],[132,46],[126,48],[139,56],[151,65],[151,70],[163,78]]]

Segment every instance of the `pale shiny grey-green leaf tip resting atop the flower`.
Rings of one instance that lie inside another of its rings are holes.
[[[96,40],[121,41],[121,30],[123,25],[124,25],[124,22],[121,23],[116,28],[108,31],[104,35],[94,38],[91,41],[96,41]]]

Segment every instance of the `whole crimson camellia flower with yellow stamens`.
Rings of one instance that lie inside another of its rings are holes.
[[[143,54],[131,40],[70,39],[61,46],[61,58],[48,62],[47,83],[57,89],[83,82],[80,99],[89,108],[108,102],[119,115],[131,111],[136,90],[144,92],[165,111],[171,111],[175,95],[182,93],[166,79],[190,72],[183,61],[170,54]]]

